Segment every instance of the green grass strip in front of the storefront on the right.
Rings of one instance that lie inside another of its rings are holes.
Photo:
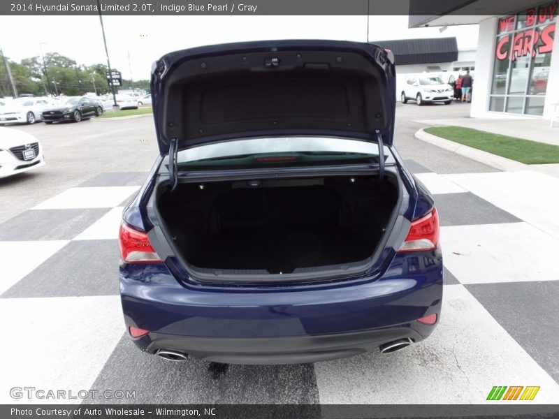
[[[525,164],[559,163],[559,146],[478,131],[461,126],[433,126],[423,131]]]

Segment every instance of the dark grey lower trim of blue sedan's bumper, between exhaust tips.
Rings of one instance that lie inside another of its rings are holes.
[[[372,352],[380,345],[397,339],[417,342],[429,334],[430,330],[423,330],[421,334],[411,325],[304,337],[204,338],[154,333],[145,351],[157,353],[160,349],[171,350],[189,357],[226,364],[303,364]]]

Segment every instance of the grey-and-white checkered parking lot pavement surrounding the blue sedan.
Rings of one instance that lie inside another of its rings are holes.
[[[467,104],[397,104],[395,146],[435,194],[444,304],[437,330],[405,351],[312,365],[174,363],[124,332],[117,226],[158,153],[151,117],[13,126],[36,135],[47,165],[0,179],[0,349],[9,388],[134,390],[109,403],[480,404],[494,385],[535,385],[559,401],[558,179],[499,172],[414,138],[421,119]]]

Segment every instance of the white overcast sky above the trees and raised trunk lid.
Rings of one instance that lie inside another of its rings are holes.
[[[477,47],[477,25],[408,29],[407,16],[371,16],[369,39],[456,36],[458,47]],[[166,52],[235,41],[319,38],[366,41],[366,16],[105,16],[111,66],[124,78],[149,79],[152,62]],[[10,59],[59,52],[78,64],[106,64],[99,16],[0,16],[0,46]],[[128,60],[130,54],[130,66]]]

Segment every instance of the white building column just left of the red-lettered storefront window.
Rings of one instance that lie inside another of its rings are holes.
[[[474,90],[472,94],[472,107],[470,108],[470,117],[472,118],[488,117],[487,110],[489,109],[489,94],[491,93],[491,83],[493,80],[493,62],[495,61],[497,20],[497,17],[490,17],[479,22]]]

